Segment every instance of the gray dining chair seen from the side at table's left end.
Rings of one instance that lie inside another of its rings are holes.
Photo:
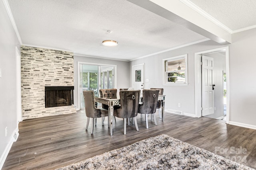
[[[85,105],[85,113],[87,117],[86,130],[88,129],[90,118],[92,118],[92,133],[94,129],[94,121],[98,117],[106,117],[108,116],[108,110],[102,108],[96,108],[94,101],[94,91],[83,91],[84,95],[84,105]],[[103,125],[103,120],[102,120]]]

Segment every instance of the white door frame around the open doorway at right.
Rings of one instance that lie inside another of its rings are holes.
[[[195,114],[196,117],[202,116],[202,71],[201,71],[201,55],[208,53],[225,52],[226,55],[226,98],[227,98],[227,115],[226,123],[229,123],[229,108],[230,108],[230,88],[229,88],[229,47],[220,47],[217,49],[211,49],[206,51],[200,51],[195,53]]]

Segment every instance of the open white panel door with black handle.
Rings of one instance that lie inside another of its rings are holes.
[[[214,113],[213,58],[202,56],[202,116]]]

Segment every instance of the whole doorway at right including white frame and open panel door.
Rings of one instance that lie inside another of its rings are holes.
[[[203,56],[206,56],[207,59]],[[212,61],[212,70],[208,69],[207,64],[209,63],[206,63],[208,59]],[[196,117],[206,116],[214,119],[223,119],[226,115],[226,123],[228,123],[228,61],[228,47],[221,47],[218,49],[195,53]]]

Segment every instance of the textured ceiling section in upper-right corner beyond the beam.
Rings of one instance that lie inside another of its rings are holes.
[[[256,25],[256,0],[190,0],[232,31]]]

